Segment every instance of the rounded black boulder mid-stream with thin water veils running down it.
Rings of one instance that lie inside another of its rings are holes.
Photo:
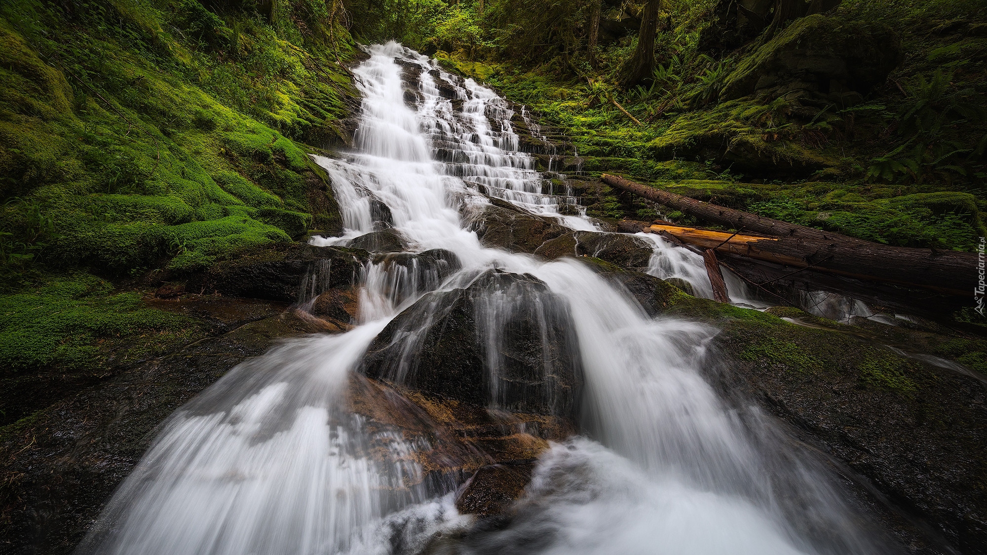
[[[493,270],[402,312],[371,344],[362,371],[430,395],[543,415],[573,416],[582,388],[565,301],[536,278]]]

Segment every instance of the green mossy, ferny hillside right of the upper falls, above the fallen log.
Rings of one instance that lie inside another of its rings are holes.
[[[666,3],[653,79],[630,90],[617,84],[617,75],[633,37],[600,47],[596,68],[573,49],[506,57],[512,46],[497,42],[497,29],[488,30],[490,42],[482,47],[432,43],[449,47],[436,54],[446,67],[483,80],[561,127],[591,175],[622,173],[892,245],[973,250],[977,237],[987,234],[981,215],[987,206],[982,3],[848,0],[825,18],[797,21],[769,44],[755,40],[719,56],[701,44],[715,4]],[[476,22],[493,26],[493,18]],[[874,25],[900,40],[903,60],[860,101],[806,109],[785,96],[721,98],[758,59],[799,40],[799,33],[842,40],[841,33]],[[436,37],[442,37],[438,30]],[[587,202],[592,215],[645,219],[653,213],[608,188],[594,195]],[[662,215],[691,223],[681,214]]]

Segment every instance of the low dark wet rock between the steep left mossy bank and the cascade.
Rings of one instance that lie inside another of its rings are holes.
[[[294,243],[213,265],[190,277],[187,287],[194,292],[296,302],[302,282],[319,268],[325,268],[325,275],[319,277],[321,288],[349,287],[368,258],[367,252],[357,249]]]

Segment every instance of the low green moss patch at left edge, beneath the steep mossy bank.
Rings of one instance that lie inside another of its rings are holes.
[[[9,423],[114,368],[184,345],[190,317],[148,308],[139,292],[74,274],[0,296],[0,420]]]

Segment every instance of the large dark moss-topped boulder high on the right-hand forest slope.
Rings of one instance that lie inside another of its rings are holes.
[[[721,100],[755,95],[853,104],[884,83],[901,60],[901,44],[886,25],[816,14],[744,58],[726,78]]]

